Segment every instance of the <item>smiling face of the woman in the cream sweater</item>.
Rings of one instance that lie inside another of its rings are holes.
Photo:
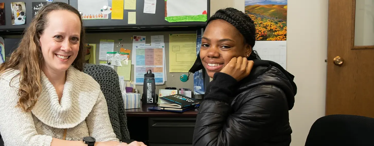
[[[43,53],[43,70],[66,71],[74,62],[79,51],[80,19],[66,10],[48,14],[48,25],[40,36]]]

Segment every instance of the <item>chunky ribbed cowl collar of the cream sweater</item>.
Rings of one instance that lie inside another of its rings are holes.
[[[42,72],[42,93],[31,112],[40,121],[55,128],[72,128],[80,124],[91,112],[99,95],[91,91],[83,72],[73,66],[68,68],[61,102],[55,87]]]

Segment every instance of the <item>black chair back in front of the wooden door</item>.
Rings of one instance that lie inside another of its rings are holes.
[[[310,128],[305,146],[374,146],[374,118],[327,115]]]

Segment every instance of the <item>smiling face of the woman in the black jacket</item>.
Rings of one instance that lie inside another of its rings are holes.
[[[215,72],[221,71],[233,57],[246,57],[251,54],[251,46],[245,43],[244,37],[229,22],[221,19],[209,22],[201,39],[200,59],[213,78]]]

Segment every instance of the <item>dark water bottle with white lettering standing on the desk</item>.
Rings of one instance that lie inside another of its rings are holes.
[[[154,81],[154,74],[151,70],[144,74],[144,84],[143,84],[143,97],[142,103],[146,105],[156,104],[156,82]]]

